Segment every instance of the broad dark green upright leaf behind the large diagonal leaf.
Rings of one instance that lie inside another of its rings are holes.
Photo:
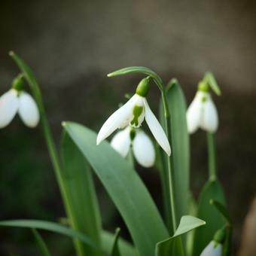
[[[101,220],[90,166],[66,132],[62,134],[61,157],[62,181],[70,203],[69,221],[72,228],[85,233],[100,246]],[[82,254],[101,254],[80,240],[75,242]]]

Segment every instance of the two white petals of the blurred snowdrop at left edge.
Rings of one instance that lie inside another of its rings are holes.
[[[11,89],[0,97],[0,128],[8,126],[17,112],[26,126],[37,126],[39,112],[35,100],[23,90]]]

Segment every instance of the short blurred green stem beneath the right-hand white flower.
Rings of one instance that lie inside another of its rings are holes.
[[[215,134],[207,133],[209,180],[217,178]]]

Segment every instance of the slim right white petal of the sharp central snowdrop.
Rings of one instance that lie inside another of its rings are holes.
[[[145,105],[145,119],[148,123],[148,127],[151,130],[151,133],[154,135],[157,143],[166,151],[166,154],[171,155],[171,147],[169,145],[169,141],[166,137],[166,133],[164,133],[162,126],[157,120],[157,117],[154,116],[151,108],[149,108],[147,99],[144,99]]]

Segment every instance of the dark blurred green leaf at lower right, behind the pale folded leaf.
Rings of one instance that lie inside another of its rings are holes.
[[[200,194],[197,217],[206,221],[205,227],[195,230],[193,255],[198,256],[212,240],[215,232],[224,226],[220,212],[210,205],[210,200],[218,200],[225,205],[224,191],[218,180],[207,181]]]

